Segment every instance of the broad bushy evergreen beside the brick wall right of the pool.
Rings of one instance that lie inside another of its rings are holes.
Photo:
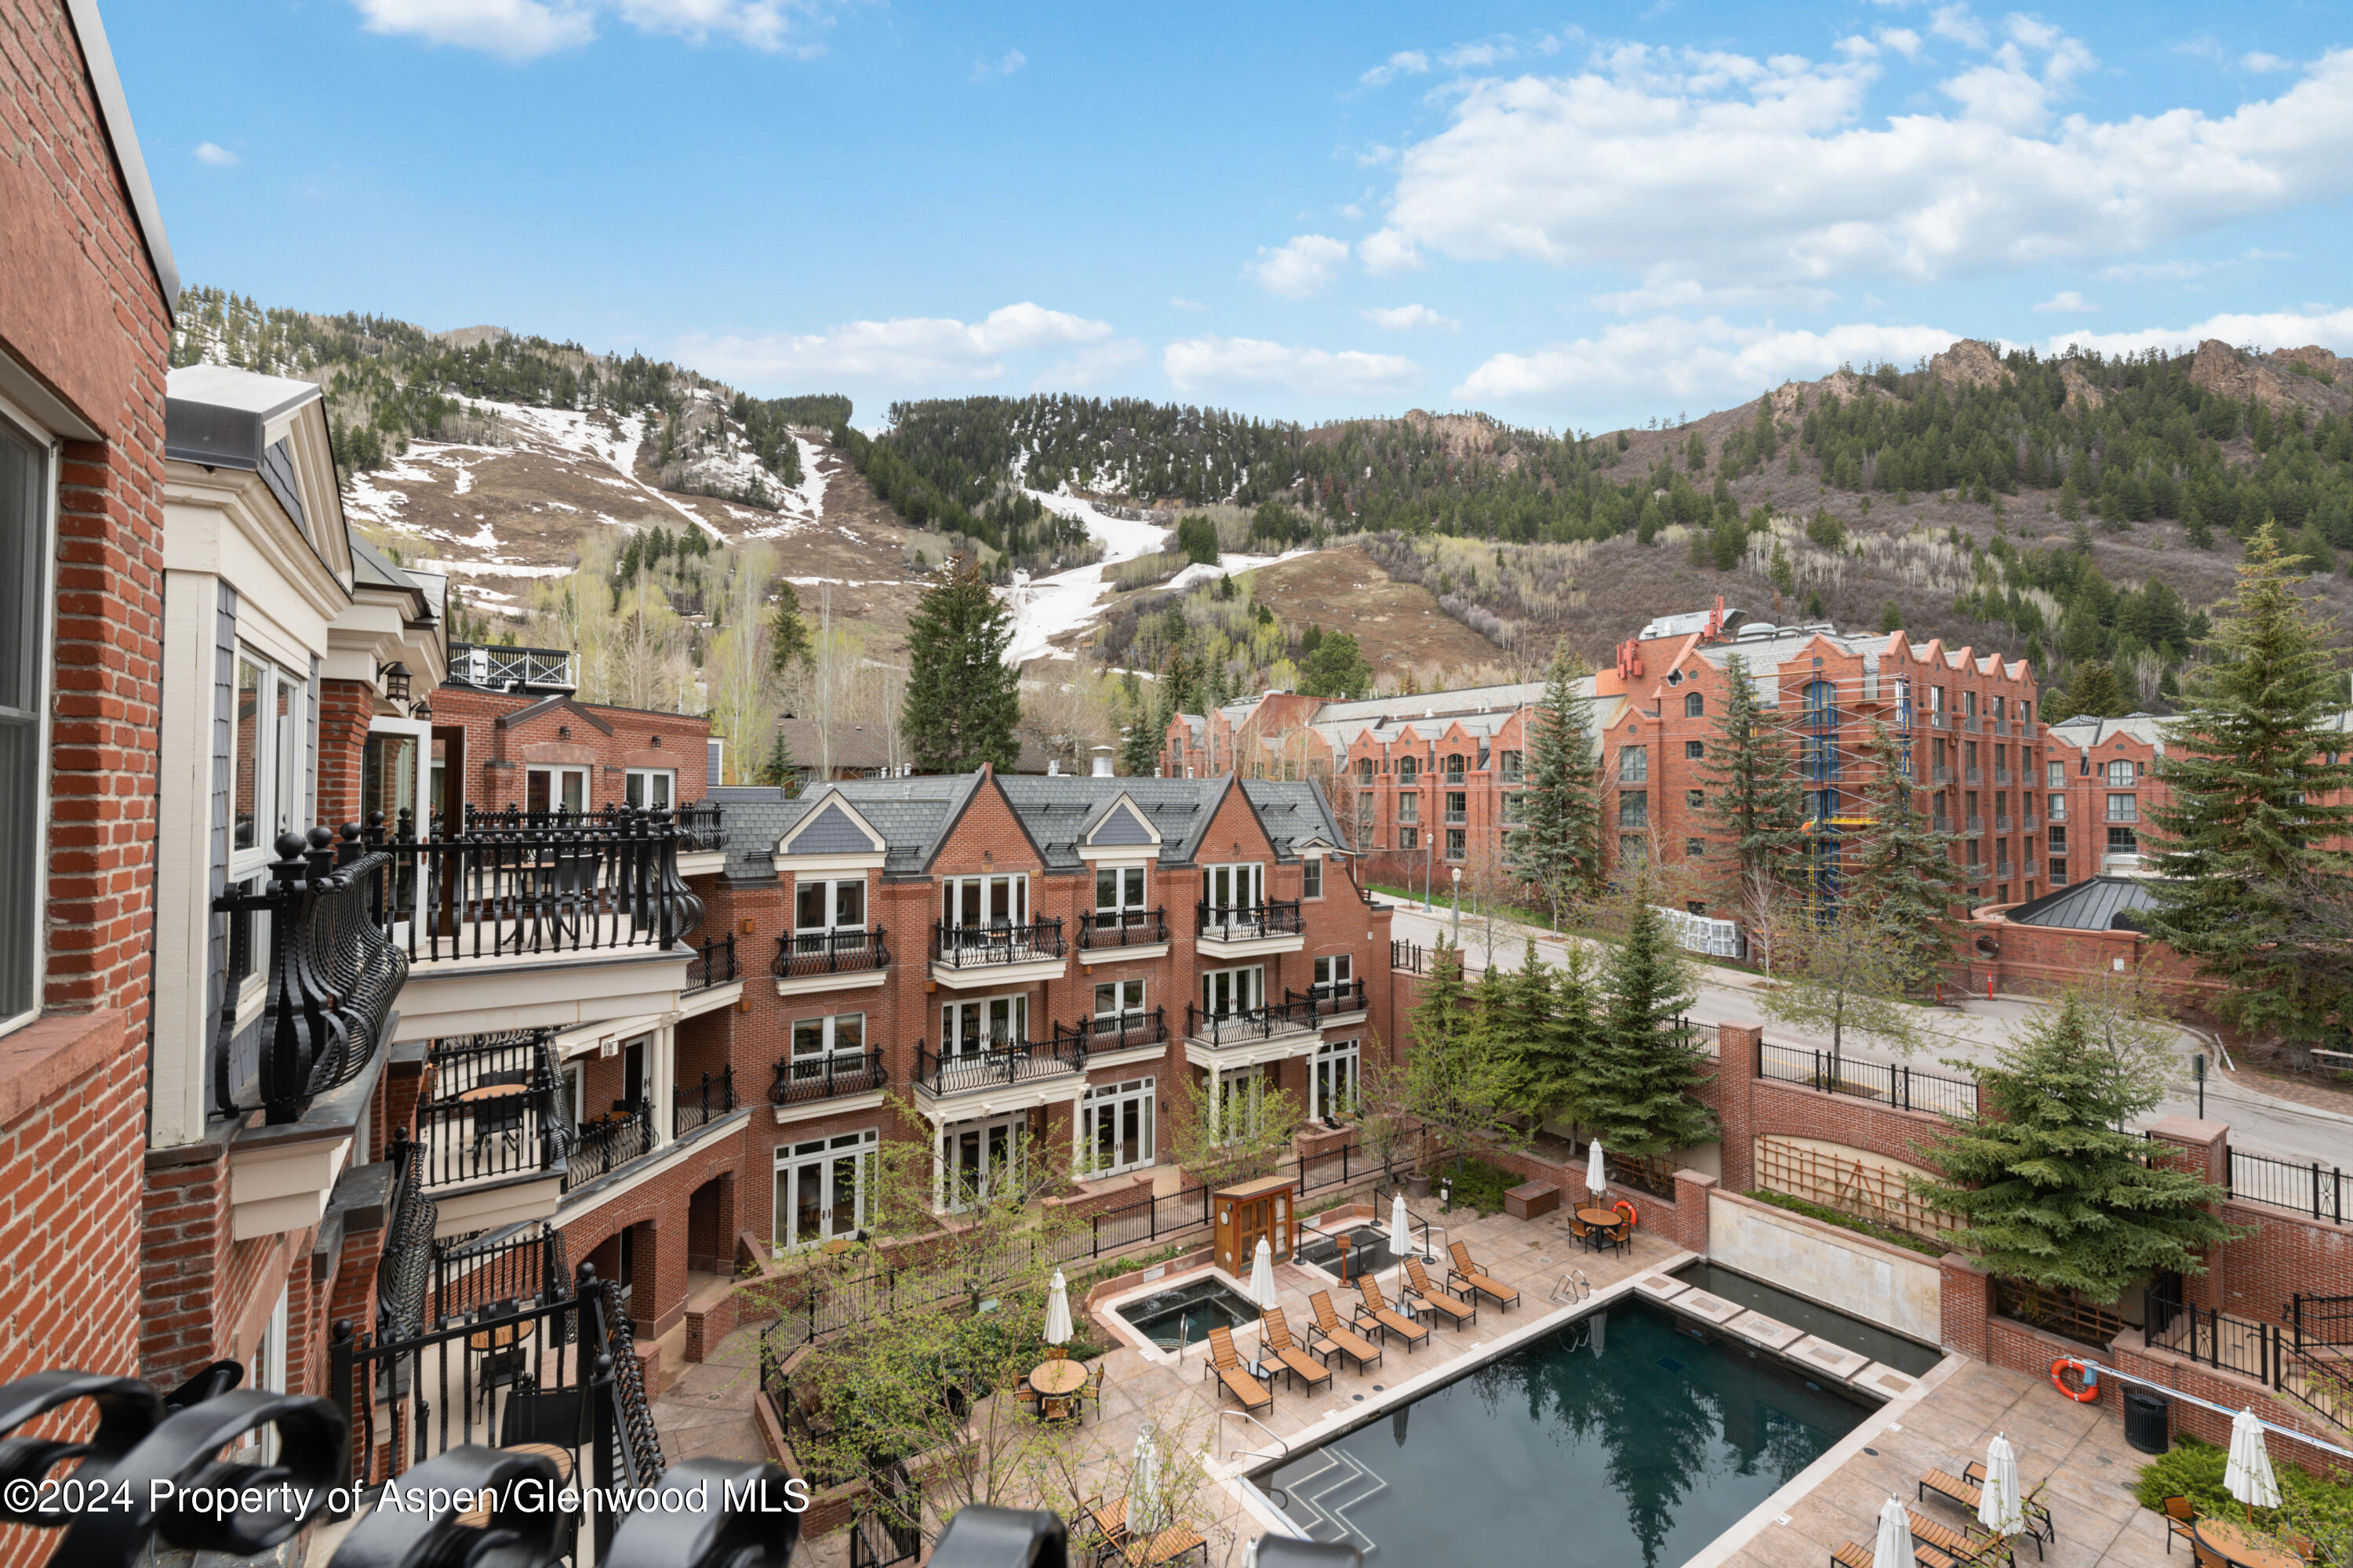
[[[2118,1131],[2155,1105],[2101,1048],[2080,997],[2045,1009],[1981,1070],[1984,1114],[1951,1121],[1915,1194],[1960,1220],[1946,1241],[1986,1272],[2113,1302],[2158,1272],[2205,1272],[2233,1232],[2226,1197]]]

